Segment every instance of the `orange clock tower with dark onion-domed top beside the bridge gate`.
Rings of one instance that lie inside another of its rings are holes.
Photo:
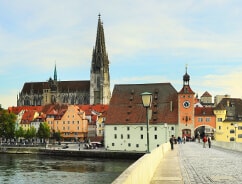
[[[187,73],[183,75],[183,88],[178,93],[178,124],[179,136],[194,136],[194,95],[190,85],[190,76]]]

